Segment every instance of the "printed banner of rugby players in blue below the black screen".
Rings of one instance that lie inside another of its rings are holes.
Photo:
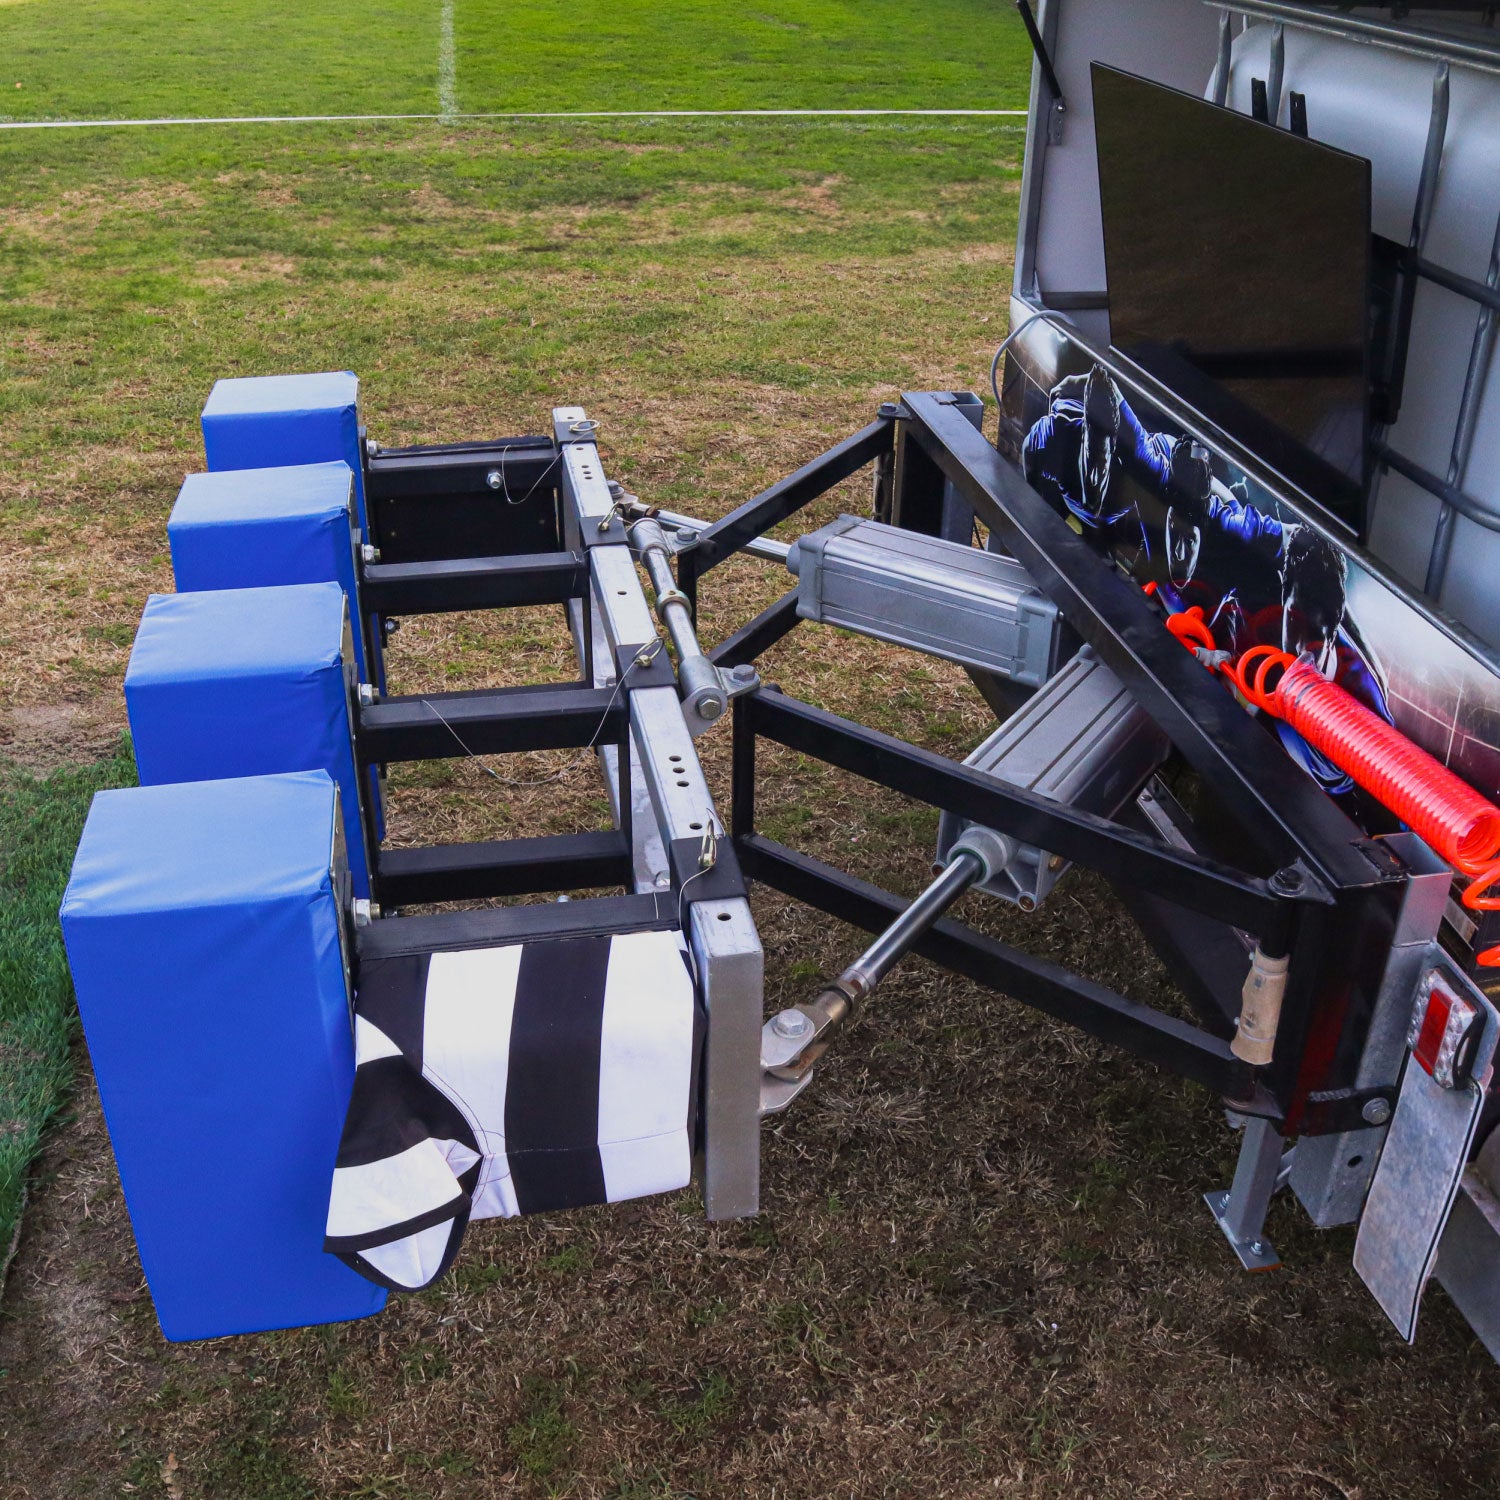
[[[1340,546],[1185,435],[1136,387],[1046,324],[1006,362],[1000,450],[1080,536],[1170,612],[1200,606],[1215,646],[1310,654],[1324,676],[1500,796],[1500,680],[1358,549]],[[1287,752],[1371,831],[1380,813],[1278,723]]]

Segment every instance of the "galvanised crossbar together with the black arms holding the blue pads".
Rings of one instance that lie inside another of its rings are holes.
[[[366,766],[597,750],[615,830],[381,849],[370,866],[374,918],[356,933],[357,957],[681,924],[708,1018],[705,1206],[711,1218],[754,1214],[760,944],[734,854],[718,840],[723,830],[676,676],[657,645],[594,444],[596,423],[578,408],[554,416],[555,432],[543,438],[404,450],[366,442],[370,540],[360,549],[358,606],[378,639],[400,615],[561,604],[579,680],[411,698],[366,690],[354,746]],[[414,904],[609,886],[628,894],[381,915]]]

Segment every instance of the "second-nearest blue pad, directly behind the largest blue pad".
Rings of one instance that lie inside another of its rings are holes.
[[[124,702],[142,786],[327,771],[354,890],[368,897],[345,632],[338,584],[152,594]]]

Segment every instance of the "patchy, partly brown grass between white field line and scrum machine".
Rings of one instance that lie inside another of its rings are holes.
[[[354,369],[384,442],[584,400],[627,466],[670,434],[684,507],[754,483],[735,434],[782,394],[806,456],[902,384],[980,384],[1018,153],[978,120],[0,135],[0,528],[32,584],[0,699],[117,680],[219,376]]]

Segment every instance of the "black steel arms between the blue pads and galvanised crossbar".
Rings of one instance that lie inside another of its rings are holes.
[[[400,615],[572,604],[588,628],[590,567],[562,549],[558,513],[561,447],[550,436],[366,450],[363,484],[370,544],[360,560],[360,612],[376,638]],[[393,762],[525,750],[620,752],[622,826],[543,838],[507,838],[378,850],[372,894],[387,912],[405,906],[628,891],[630,690],[576,682],[488,692],[390,696],[362,704],[354,750],[362,770]],[[692,896],[692,892],[690,892]],[[382,920],[358,934],[362,957],[522,938],[672,926],[670,900],[604,896],[566,906],[519,906]]]

